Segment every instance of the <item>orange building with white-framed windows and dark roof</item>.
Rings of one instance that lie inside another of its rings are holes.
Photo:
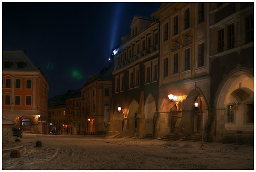
[[[48,132],[49,86],[25,51],[3,51],[2,117],[15,122],[23,132]]]

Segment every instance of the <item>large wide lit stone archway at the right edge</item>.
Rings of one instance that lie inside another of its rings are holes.
[[[238,109],[231,110],[235,102],[239,104]],[[217,137],[237,131],[253,132],[254,123],[247,122],[247,104],[254,105],[254,74],[252,70],[237,67],[225,75],[215,95],[213,106],[216,109]]]

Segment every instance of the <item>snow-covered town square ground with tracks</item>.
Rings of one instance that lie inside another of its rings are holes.
[[[3,170],[254,169],[254,146],[83,135],[24,134],[20,158],[2,153]],[[42,147],[36,147],[36,141]]]

